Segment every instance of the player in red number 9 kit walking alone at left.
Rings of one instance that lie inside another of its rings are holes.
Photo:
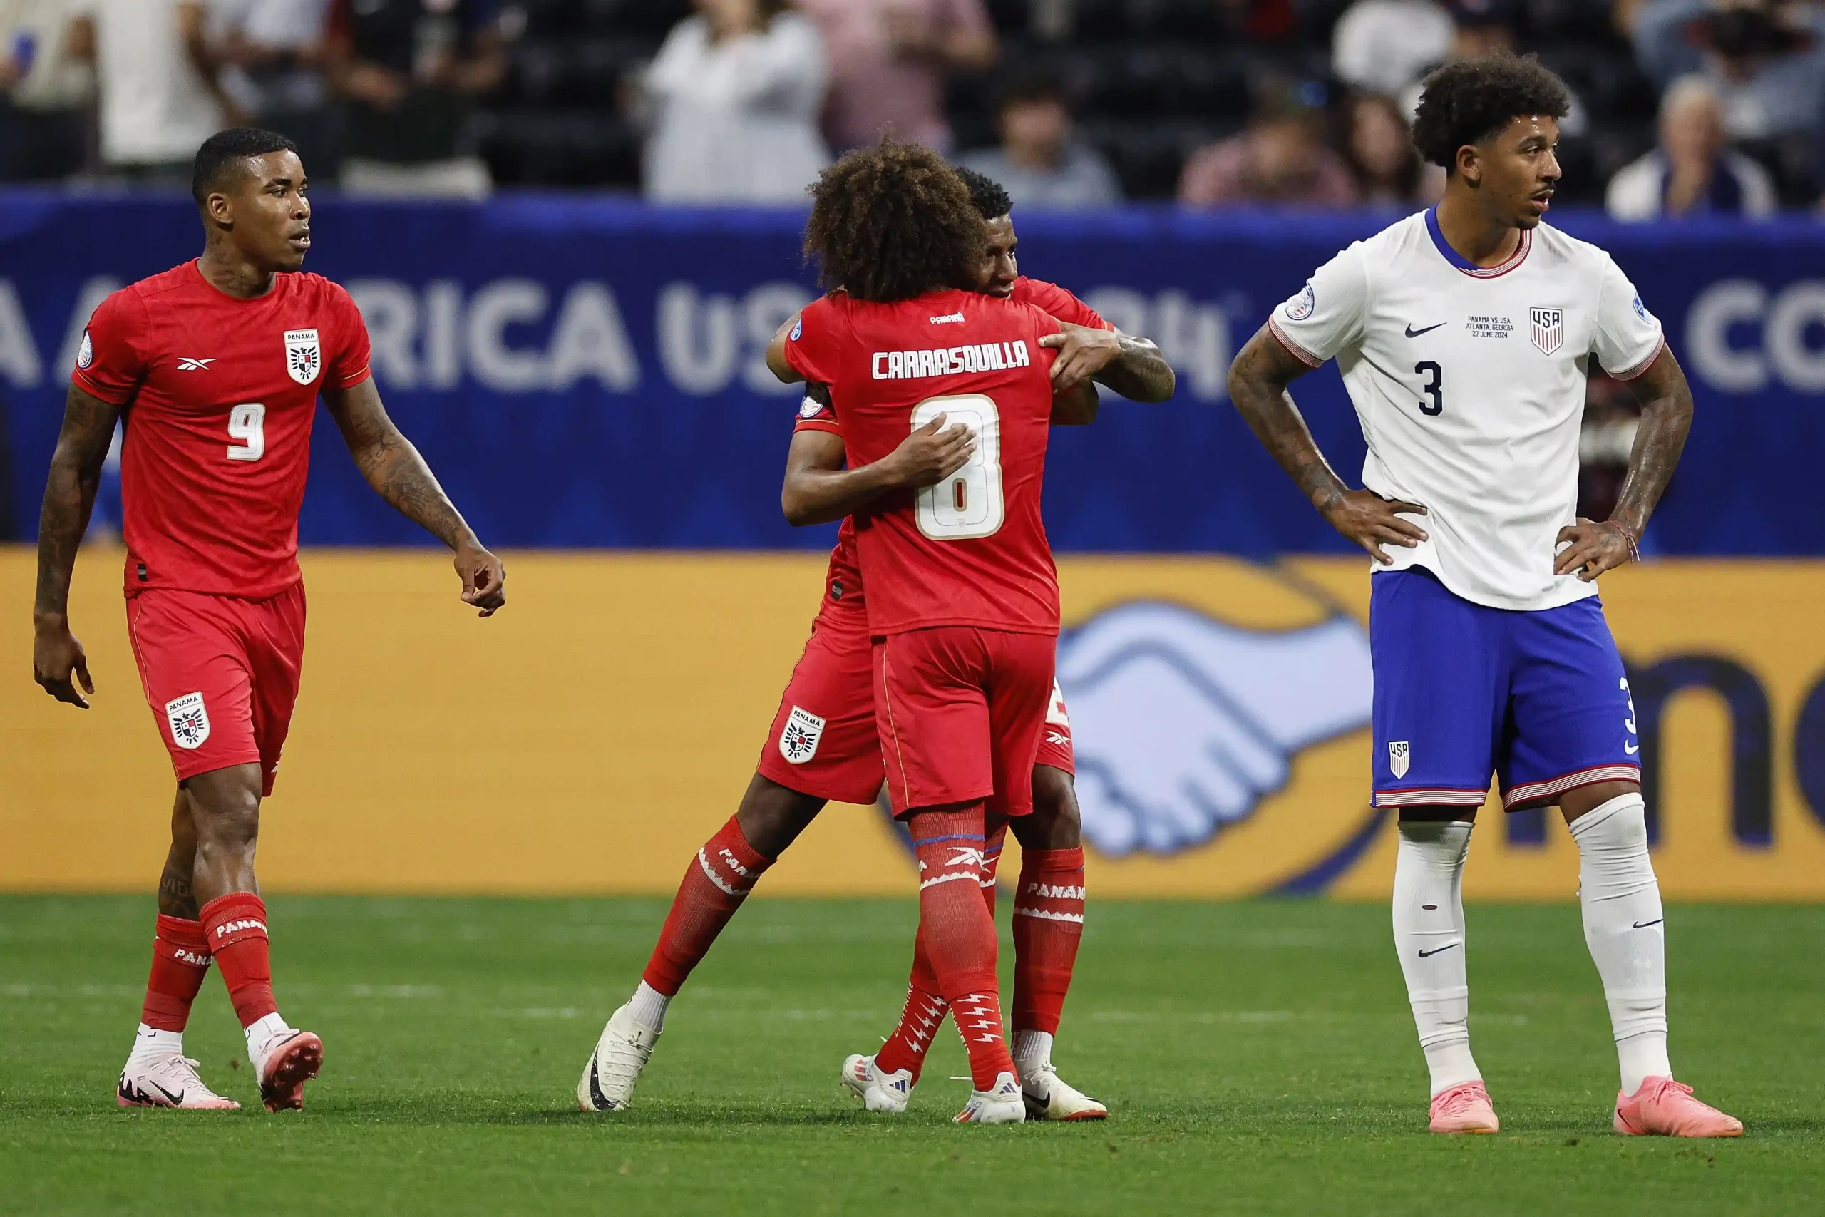
[[[254,878],[259,803],[303,664],[297,509],[318,396],[381,498],[456,551],[462,598],[482,617],[506,604],[506,571],[387,418],[354,301],[296,274],[310,203],[292,142],[250,128],[212,135],[192,190],[203,255],[115,292],[82,336],[38,524],[33,668],[47,693],[88,706],[95,684],[69,631],[69,577],[124,420],[128,635],[177,801],[151,978],[117,1098],[239,1106],[184,1058],[184,1024],[214,960],[261,1100],[279,1111],[303,1106],[323,1060],[321,1040],[279,1016]]]

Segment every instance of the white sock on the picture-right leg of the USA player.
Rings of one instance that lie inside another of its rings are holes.
[[[1584,943],[1602,976],[1610,1027],[1633,1095],[1648,1077],[1672,1077],[1666,1060],[1666,923],[1661,881],[1648,858],[1648,805],[1621,794],[1571,821],[1579,843]]]

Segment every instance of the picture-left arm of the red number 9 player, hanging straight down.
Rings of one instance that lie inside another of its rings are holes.
[[[88,710],[82,693],[95,692],[89,659],[69,631],[69,575],[77,569],[77,547],[89,527],[95,487],[113,440],[120,407],[89,396],[75,385],[64,400],[64,429],[51,456],[51,476],[44,480],[44,509],[38,515],[38,597],[31,606],[33,677],[57,701]],[[82,693],[75,682],[80,681]]]

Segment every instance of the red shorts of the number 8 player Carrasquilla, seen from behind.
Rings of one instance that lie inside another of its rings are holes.
[[[1033,810],[1033,765],[1058,640],[936,626],[874,640],[874,723],[894,816],[987,799]]]

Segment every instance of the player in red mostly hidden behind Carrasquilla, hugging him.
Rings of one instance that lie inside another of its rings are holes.
[[[958,173],[987,224],[980,290],[1038,305],[1062,323],[1064,336],[1044,339],[1060,345],[1055,385],[1069,389],[1093,376],[1139,401],[1168,400],[1173,372],[1159,348],[1115,332],[1064,288],[1020,276],[1007,192],[980,173]],[[790,328],[790,323],[781,328],[776,347]],[[1073,405],[1080,409],[1084,401]],[[1055,425],[1084,421],[1090,414],[1053,416]],[[794,524],[843,520],[812,637],[792,671],[741,806],[686,867],[639,987],[610,1018],[584,1066],[577,1086],[584,1109],[610,1111],[628,1104],[664,1025],[666,1005],[761,874],[825,803],[872,803],[880,792],[885,774],[874,730],[867,608],[847,516],[885,493],[933,485],[954,474],[975,443],[965,429],[938,431],[938,425],[922,427],[885,460],[845,469],[841,429],[829,394],[814,387],[807,398],[787,458],[783,507]],[[1013,1027],[1027,1113],[1066,1120],[1106,1115],[1102,1104],[1060,1082],[1051,1067],[1051,1040],[1082,934],[1084,863],[1071,770],[1069,719],[1058,699],[1033,768],[1033,816],[1017,823],[1022,900],[1017,900],[1015,920]],[[995,837],[984,850],[984,898],[991,907],[998,854],[1000,837]],[[905,1109],[945,1011],[920,941],[900,1024],[880,1053],[885,1064],[856,1055],[843,1066],[843,1082],[871,1111]]]

